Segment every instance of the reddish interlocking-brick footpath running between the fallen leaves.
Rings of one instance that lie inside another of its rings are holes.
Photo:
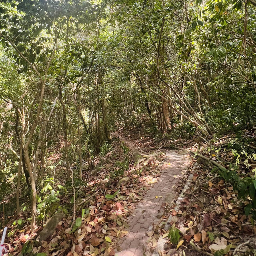
[[[158,166],[162,170],[161,176],[130,216],[128,235],[119,240],[116,256],[150,255],[144,254],[150,239],[147,233],[153,230],[154,225],[160,223],[164,213],[162,206],[164,202],[171,202],[174,198],[174,185],[186,172],[188,164],[189,158],[182,153],[166,152],[166,158]]]

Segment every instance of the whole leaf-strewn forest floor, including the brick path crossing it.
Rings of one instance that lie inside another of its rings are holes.
[[[75,210],[70,195],[61,194],[59,205],[70,210],[52,236],[38,241],[44,229],[30,232],[29,211],[19,221],[10,217],[6,255],[256,256],[256,226],[244,214],[244,202],[208,162],[188,155],[188,149],[199,150],[231,162],[230,151],[216,152],[193,140],[174,142],[187,150],[160,151],[150,136],[113,136],[119,140],[95,159],[96,173],[84,173],[87,185],[78,191]],[[61,173],[56,170],[59,181]]]

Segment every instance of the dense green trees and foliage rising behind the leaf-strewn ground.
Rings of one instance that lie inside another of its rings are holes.
[[[255,6],[254,0],[1,1],[3,218],[15,200],[17,213],[32,210],[32,230],[54,212],[67,212],[58,203],[61,190],[73,196],[74,183],[86,186],[82,174],[109,151],[111,132],[120,127],[253,138]],[[251,151],[244,154],[254,159]],[[123,173],[128,160],[119,164]],[[55,184],[58,166],[65,187]],[[232,177],[221,175],[233,178],[241,197],[250,196],[246,213],[255,215],[254,172],[249,168],[241,181],[230,168]]]

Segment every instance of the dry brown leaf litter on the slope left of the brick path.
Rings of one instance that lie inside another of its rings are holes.
[[[26,221],[30,212],[20,214],[19,218],[25,222],[22,230],[13,225],[16,219],[13,216],[8,225],[6,248],[9,247],[9,250],[5,255],[114,256],[118,239],[128,234],[127,217],[131,210],[160,176],[155,168],[161,160],[161,154],[158,154],[143,158],[139,163],[132,163],[132,152],[128,152],[131,159],[128,170],[123,175],[111,178],[111,174],[118,170],[116,162],[124,158],[120,142],[114,143],[116,145],[111,154],[95,161],[102,166],[97,176],[84,174],[88,184],[84,186],[84,193],[89,200],[76,207],[75,222],[70,211],[70,214],[58,222],[54,234],[40,243],[38,234],[42,227],[39,226],[35,233],[30,233],[29,222]],[[106,164],[102,164],[103,162]],[[125,182],[118,183],[126,177]],[[101,182],[106,179],[108,182]],[[63,197],[60,200],[72,207],[70,199]],[[154,244],[156,242],[154,240]]]

